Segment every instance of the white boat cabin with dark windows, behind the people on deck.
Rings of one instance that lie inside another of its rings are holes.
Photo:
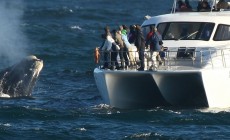
[[[162,35],[164,46],[169,48],[215,47],[230,44],[230,11],[215,9],[218,2],[223,0],[206,0],[212,5],[212,10],[205,12],[195,10],[197,7],[192,7],[190,12],[179,11],[177,10],[179,1],[191,3],[191,6],[201,2],[175,0],[170,14],[150,17],[143,22],[144,35],[149,32],[150,26],[156,26]]]

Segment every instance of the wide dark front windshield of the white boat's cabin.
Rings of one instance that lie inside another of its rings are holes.
[[[214,25],[210,22],[166,22],[158,24],[157,28],[163,40],[208,41]]]

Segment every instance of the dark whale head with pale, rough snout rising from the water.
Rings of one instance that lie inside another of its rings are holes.
[[[42,68],[43,61],[31,55],[0,71],[0,97],[31,96]]]

